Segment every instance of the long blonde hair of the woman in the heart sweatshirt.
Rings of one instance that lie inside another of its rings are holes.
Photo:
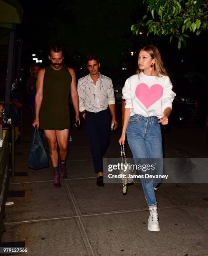
[[[155,69],[156,77],[169,76],[167,73],[167,70],[165,69],[164,63],[162,61],[160,51],[157,49],[157,47],[153,45],[147,45],[142,49],[140,49],[140,51],[142,50],[150,54],[152,59],[155,59],[154,69]],[[140,54],[140,51],[139,51],[139,54]],[[137,74],[140,75],[141,72],[143,72],[143,69],[140,69],[140,67],[138,67]]]

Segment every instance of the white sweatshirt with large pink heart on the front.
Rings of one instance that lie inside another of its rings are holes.
[[[125,108],[131,109],[134,114],[145,117],[164,115],[166,108],[172,109],[172,101],[176,96],[172,91],[170,78],[167,76],[147,76],[143,72],[129,77],[122,89]]]

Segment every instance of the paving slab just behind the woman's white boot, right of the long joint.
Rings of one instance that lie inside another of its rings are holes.
[[[109,212],[129,209],[147,209],[147,202],[140,184],[128,187],[127,195],[122,194],[122,184],[105,184],[96,186],[96,179],[66,180],[71,187],[81,213]],[[170,199],[157,191],[157,201],[160,206],[173,206]]]

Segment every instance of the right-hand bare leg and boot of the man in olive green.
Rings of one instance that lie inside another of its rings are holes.
[[[69,130],[56,130],[56,137],[59,146],[59,154],[60,154],[60,170],[61,170],[61,179],[67,178],[67,170],[66,170],[66,155],[68,152],[68,133]]]

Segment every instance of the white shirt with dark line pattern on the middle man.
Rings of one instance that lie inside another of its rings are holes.
[[[96,84],[90,74],[78,80],[77,91],[79,94],[79,110],[82,112],[99,112],[115,104],[112,80],[100,74]]]

